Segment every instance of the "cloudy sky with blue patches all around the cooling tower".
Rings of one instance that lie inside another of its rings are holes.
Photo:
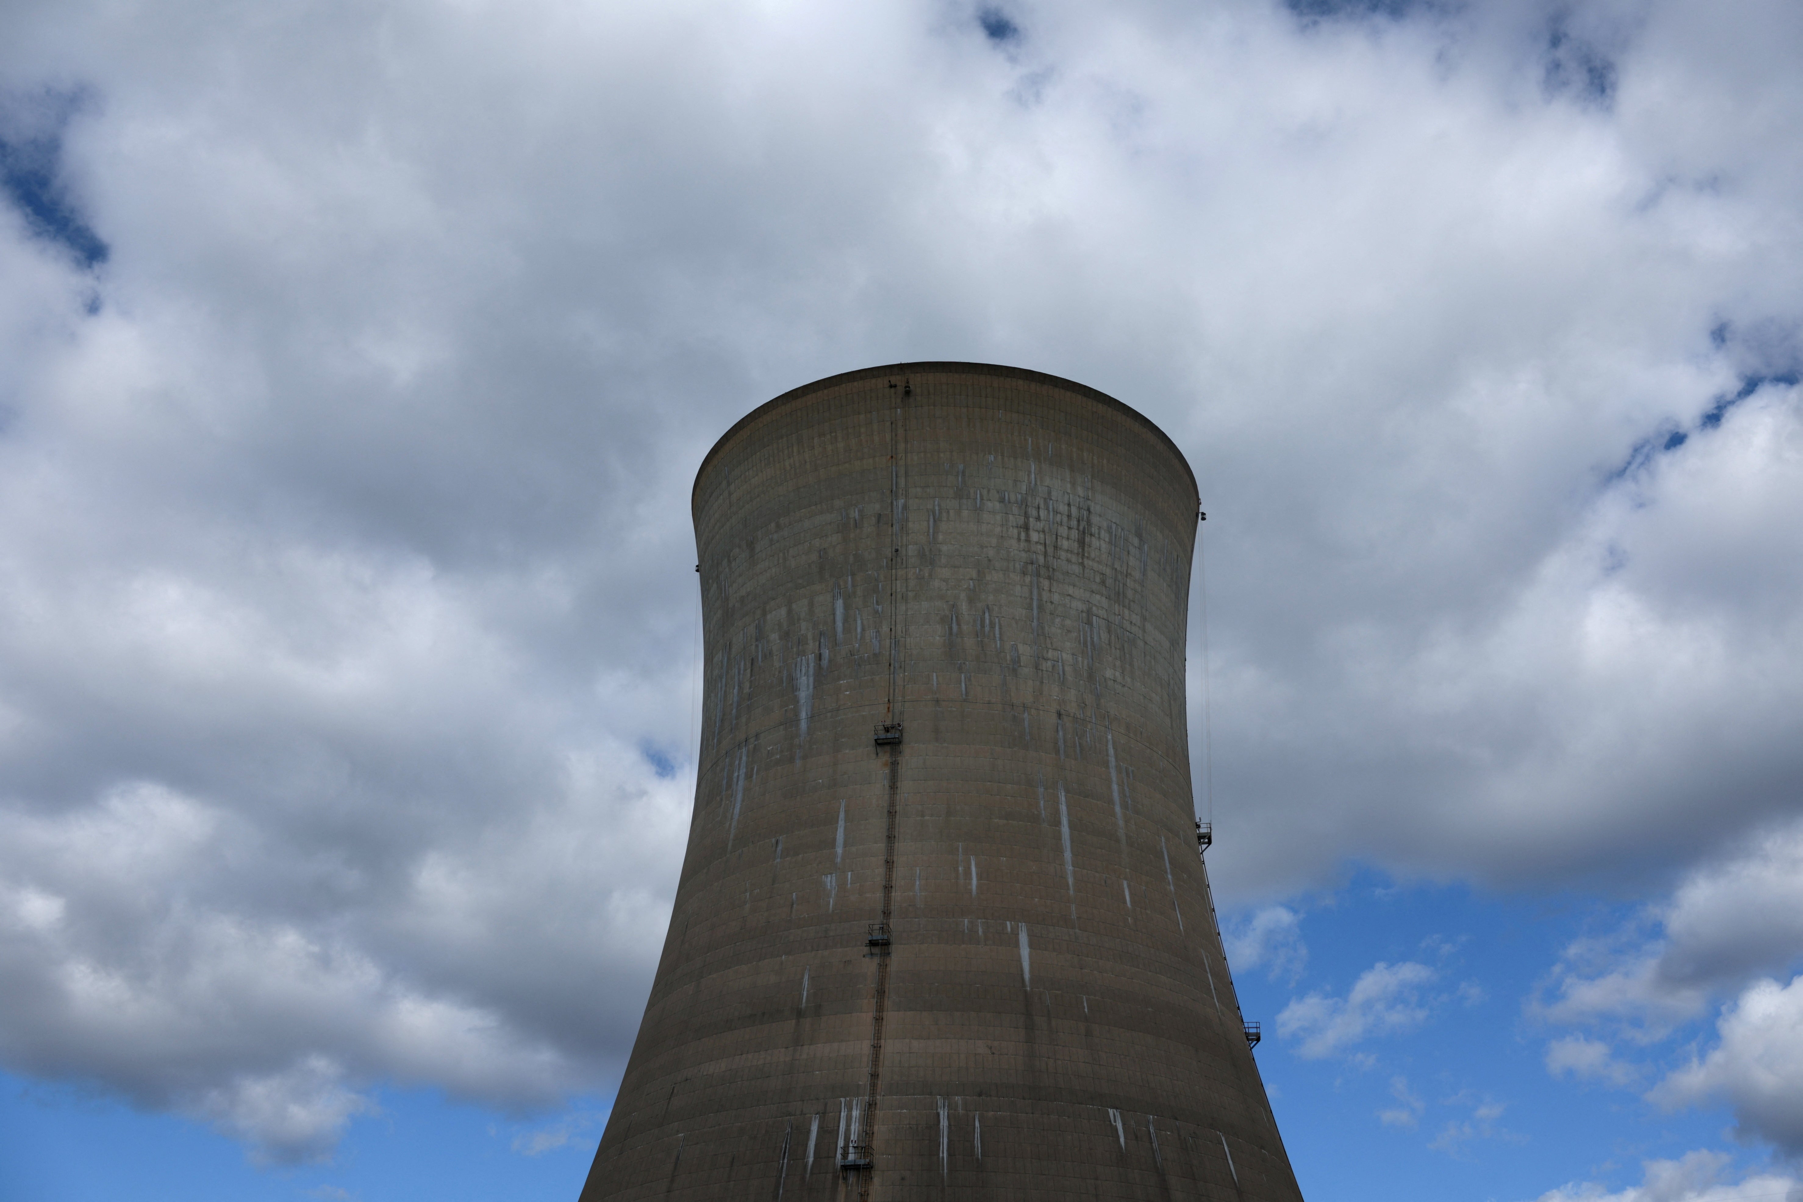
[[[1794,0],[11,0],[0,1198],[573,1198],[689,487],[1001,362],[1201,483],[1314,1202],[1803,1200]]]

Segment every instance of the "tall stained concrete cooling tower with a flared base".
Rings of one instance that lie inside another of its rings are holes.
[[[1197,854],[1176,445],[871,368],[734,425],[694,526],[694,818],[582,1202],[1300,1198]]]

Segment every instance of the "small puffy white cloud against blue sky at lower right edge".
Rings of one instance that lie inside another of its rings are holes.
[[[1716,1022],[1720,1043],[1650,1097],[1666,1106],[1725,1099],[1740,1134],[1803,1153],[1803,977],[1758,980]]]

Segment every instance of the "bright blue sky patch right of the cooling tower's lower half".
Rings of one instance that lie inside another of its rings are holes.
[[[1260,1047],[1313,1197],[1534,1198],[1565,1182],[1637,1186],[1643,1161],[1679,1161],[1697,1148],[1734,1155],[1740,1170],[1767,1164],[1760,1152],[1724,1144],[1724,1106],[1668,1114],[1637,1090],[1549,1074],[1547,1045],[1567,1031],[1533,1013],[1547,966],[1570,941],[1630,921],[1630,906],[1363,876],[1302,910],[1296,930],[1309,964],[1295,984],[1286,964],[1277,980],[1240,971],[1248,1015],[1277,1018],[1316,991],[1345,998],[1376,964],[1432,973],[1392,1031],[1316,1058],[1295,1033]],[[1693,1025],[1679,1040],[1702,1034]],[[1673,1051],[1662,1060],[1675,1060]]]

